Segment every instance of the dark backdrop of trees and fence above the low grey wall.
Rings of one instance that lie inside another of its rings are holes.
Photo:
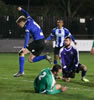
[[[56,20],[63,19],[76,39],[94,38],[93,0],[0,0],[0,38],[24,38],[24,30],[15,21],[21,15],[21,6],[42,27],[46,37],[56,27]],[[80,23],[85,18],[85,23]]]

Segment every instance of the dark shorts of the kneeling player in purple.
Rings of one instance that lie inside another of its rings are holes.
[[[79,63],[78,68],[76,70],[76,72],[65,72],[64,70],[62,70],[63,72],[63,78],[74,78],[75,77],[75,73],[79,73],[79,71],[81,71],[81,64]]]

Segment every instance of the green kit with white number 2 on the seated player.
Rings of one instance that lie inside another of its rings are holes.
[[[55,77],[53,76],[51,69],[46,68],[40,72],[34,81],[34,88],[37,93],[56,94],[61,90],[55,88]]]

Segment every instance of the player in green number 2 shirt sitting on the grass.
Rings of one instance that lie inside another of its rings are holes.
[[[52,69],[46,68],[42,70],[34,81],[34,89],[36,93],[57,94],[67,90],[60,84],[56,84],[55,77],[62,72],[60,65],[56,64]]]

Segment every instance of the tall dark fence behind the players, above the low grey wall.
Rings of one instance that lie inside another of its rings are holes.
[[[79,17],[56,17],[56,16],[36,16],[35,21],[41,26],[45,36],[47,37],[52,28],[56,27],[57,19],[64,20],[64,26],[70,30],[76,39],[93,39],[94,38],[94,19]],[[0,38],[24,38],[24,30],[20,29],[15,21],[17,17],[3,16],[0,17]]]

